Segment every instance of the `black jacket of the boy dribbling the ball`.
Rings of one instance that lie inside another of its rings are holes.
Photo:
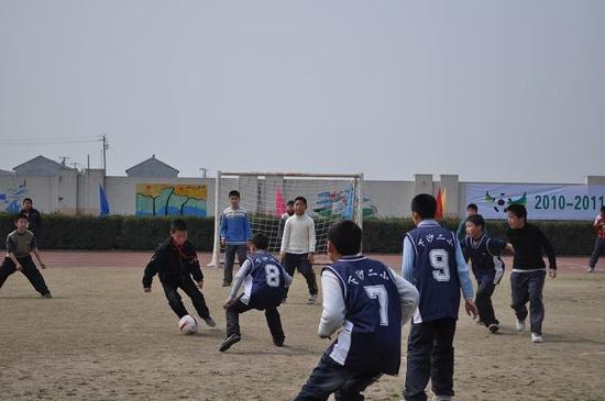
[[[160,245],[145,267],[143,287],[151,287],[153,276],[156,274],[162,283],[167,280],[189,278],[190,276],[196,281],[204,281],[196,249],[189,241],[180,249],[173,245],[169,238]]]

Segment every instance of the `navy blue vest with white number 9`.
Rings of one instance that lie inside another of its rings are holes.
[[[426,221],[406,234],[414,246],[414,285],[420,293],[414,323],[458,319],[460,280],[457,238],[437,222]]]

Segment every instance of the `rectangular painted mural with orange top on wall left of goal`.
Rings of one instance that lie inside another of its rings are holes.
[[[139,183],[136,215],[196,215],[205,218],[207,186]]]

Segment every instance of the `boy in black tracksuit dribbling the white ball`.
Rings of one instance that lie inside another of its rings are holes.
[[[179,319],[189,314],[177,291],[180,288],[189,296],[194,308],[206,324],[210,327],[216,326],[200,291],[204,287],[204,275],[199,267],[196,249],[194,244],[187,240],[187,226],[182,219],[173,221],[170,237],[155,249],[155,254],[145,267],[143,291],[151,292],[153,276],[156,274],[164,287],[164,293],[170,308]],[[196,282],[191,280],[191,277]]]

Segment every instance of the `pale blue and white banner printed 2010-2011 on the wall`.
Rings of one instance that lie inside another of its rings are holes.
[[[475,203],[485,219],[506,219],[506,208],[519,203],[529,220],[593,221],[605,205],[605,186],[469,183],[468,203]]]

